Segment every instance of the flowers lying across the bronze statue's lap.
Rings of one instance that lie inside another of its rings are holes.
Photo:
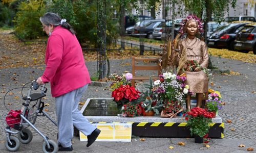
[[[202,67],[200,64],[197,63],[196,60],[188,60],[185,62],[187,68],[191,71],[203,71],[204,73],[207,74],[208,78],[210,78],[212,76],[212,73],[210,73],[210,69],[206,68],[206,67]],[[184,72],[185,68],[182,68],[182,71]]]

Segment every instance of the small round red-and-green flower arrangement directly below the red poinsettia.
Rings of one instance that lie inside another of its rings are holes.
[[[137,104],[127,103],[122,107],[122,116],[135,117],[139,112]]]

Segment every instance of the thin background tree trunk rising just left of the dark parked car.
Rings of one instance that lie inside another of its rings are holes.
[[[124,16],[125,16],[125,8],[123,4],[120,4],[120,16],[119,16],[119,25],[120,25],[120,37],[121,37],[121,48],[124,49],[125,43],[123,41],[123,37],[125,35],[125,25],[124,25]]]

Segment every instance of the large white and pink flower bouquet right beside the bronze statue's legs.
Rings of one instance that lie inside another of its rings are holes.
[[[163,101],[162,117],[175,117],[178,112],[183,110],[186,95],[191,94],[185,80],[185,74],[176,75],[166,72],[159,75],[159,80],[154,82],[152,90]]]

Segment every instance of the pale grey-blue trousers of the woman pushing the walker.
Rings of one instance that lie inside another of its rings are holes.
[[[61,144],[63,147],[72,145],[71,140],[74,135],[73,126],[86,136],[90,135],[96,129],[96,126],[84,118],[78,110],[79,100],[87,88],[88,84],[55,98],[59,131],[58,144]]]

